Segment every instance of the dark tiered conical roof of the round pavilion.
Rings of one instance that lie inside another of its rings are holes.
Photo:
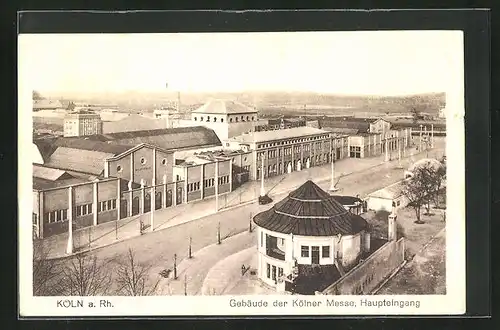
[[[346,210],[310,180],[257,214],[254,222],[270,231],[302,236],[354,235],[367,227],[365,219]]]

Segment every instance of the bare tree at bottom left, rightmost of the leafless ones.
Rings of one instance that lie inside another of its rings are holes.
[[[160,278],[154,284],[149,283],[151,266],[139,263],[132,249],[128,249],[125,260],[118,261],[115,281],[118,292],[127,296],[150,296],[156,293]]]

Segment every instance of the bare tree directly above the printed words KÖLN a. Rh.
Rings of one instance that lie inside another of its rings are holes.
[[[79,253],[62,269],[59,285],[65,296],[105,295],[111,284],[109,263],[95,255]]]

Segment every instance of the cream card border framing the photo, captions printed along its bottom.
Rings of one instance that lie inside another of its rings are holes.
[[[415,31],[413,31],[415,32]],[[429,33],[430,31],[426,31]],[[444,31],[439,31],[444,32]],[[446,31],[456,39],[456,54],[450,57],[456,67],[455,86],[447,91],[457,103],[447,113],[447,222],[446,222],[446,295],[397,296],[156,296],[156,297],[85,297],[82,308],[57,307],[64,297],[33,297],[32,294],[32,90],[29,68],[34,56],[23,53],[30,35],[18,38],[18,210],[19,210],[19,312],[21,317],[46,316],[214,316],[214,315],[458,315],[465,313],[465,126],[464,57],[462,31]],[[331,32],[336,33],[336,32]],[[383,33],[383,32],[373,32]],[[57,51],[57,50],[56,50]],[[454,50],[455,51],[455,50]],[[432,79],[432,77],[430,77]],[[23,175],[25,174],[25,175]],[[267,308],[231,307],[231,299],[267,301]],[[113,307],[88,307],[103,299]],[[293,300],[321,301],[323,307],[293,307]],[[360,301],[419,301],[420,307],[363,307]],[[288,307],[273,307],[275,300],[288,301]],[[326,307],[326,300],[353,301],[352,307]]]

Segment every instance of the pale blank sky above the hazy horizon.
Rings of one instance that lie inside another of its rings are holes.
[[[459,31],[20,35],[41,92],[405,95],[463,81]],[[26,87],[26,86],[25,86]]]

